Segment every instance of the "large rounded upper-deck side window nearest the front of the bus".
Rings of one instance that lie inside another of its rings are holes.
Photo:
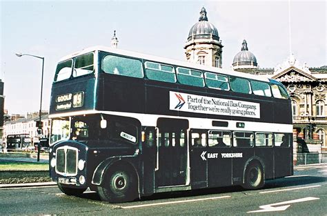
[[[107,55],[102,60],[102,70],[113,75],[143,78],[141,61]]]

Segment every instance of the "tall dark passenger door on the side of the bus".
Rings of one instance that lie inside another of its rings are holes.
[[[157,127],[157,186],[185,185],[188,120],[159,118]]]

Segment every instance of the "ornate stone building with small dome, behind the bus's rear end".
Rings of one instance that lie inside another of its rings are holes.
[[[327,67],[309,68],[292,54],[275,68],[258,68],[254,55],[239,58],[239,53],[232,63],[233,69],[276,79],[284,84],[292,99],[294,133],[306,144],[321,143],[321,147],[327,150]]]

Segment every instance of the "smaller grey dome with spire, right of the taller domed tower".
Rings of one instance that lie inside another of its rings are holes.
[[[248,43],[243,40],[241,52],[235,55],[232,61],[232,69],[258,68],[257,58],[248,50]]]

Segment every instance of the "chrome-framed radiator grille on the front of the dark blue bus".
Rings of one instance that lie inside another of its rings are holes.
[[[77,148],[63,146],[57,149],[56,172],[65,175],[77,175]]]

